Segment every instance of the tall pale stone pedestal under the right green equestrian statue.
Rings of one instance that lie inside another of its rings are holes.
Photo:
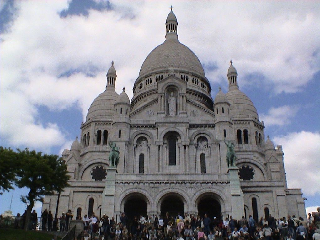
[[[231,212],[233,219],[241,219],[244,216],[244,195],[240,187],[237,167],[229,167]]]

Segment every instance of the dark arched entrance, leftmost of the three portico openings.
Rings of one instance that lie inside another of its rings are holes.
[[[138,219],[140,215],[147,217],[148,205],[141,196],[132,196],[124,204],[124,213],[127,215],[130,222],[136,216]]]

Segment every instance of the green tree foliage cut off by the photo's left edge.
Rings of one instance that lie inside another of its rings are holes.
[[[0,147],[0,194],[13,189],[16,180],[17,155],[10,148]]]

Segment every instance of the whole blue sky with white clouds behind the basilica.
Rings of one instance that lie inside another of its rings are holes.
[[[228,91],[230,59],[265,135],[282,145],[289,188],[320,205],[319,1],[1,1],[0,145],[61,154],[80,135],[111,61],[129,98],[142,62],[164,41],[173,5],[178,35],[211,82]],[[0,213],[23,212],[16,189]],[[37,205],[39,207],[39,204]]]

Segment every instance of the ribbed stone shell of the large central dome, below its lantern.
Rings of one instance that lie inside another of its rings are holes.
[[[166,39],[163,44],[149,53],[142,64],[139,77],[169,68],[190,71],[205,77],[197,56],[177,39],[171,38]]]

